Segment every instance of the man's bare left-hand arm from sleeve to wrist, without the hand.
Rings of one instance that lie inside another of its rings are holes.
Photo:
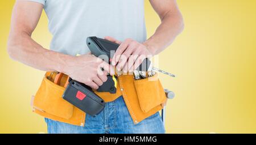
[[[16,1],[11,18],[8,52],[11,58],[44,71],[63,71],[71,56],[44,49],[31,39],[42,14],[43,5]]]

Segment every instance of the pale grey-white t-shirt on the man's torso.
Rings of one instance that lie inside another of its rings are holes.
[[[146,40],[144,0],[26,0],[44,5],[53,35],[51,50],[70,54],[89,52],[88,36]]]

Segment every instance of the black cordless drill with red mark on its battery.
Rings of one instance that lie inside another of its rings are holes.
[[[109,64],[119,46],[119,44],[97,37],[88,37],[86,39],[86,44],[94,56],[102,58]],[[147,71],[149,66],[150,61],[146,58],[137,70]],[[99,86],[97,91],[116,93],[117,77],[114,75],[107,75],[107,77],[108,80],[104,82],[102,86]],[[92,88],[77,82],[76,80],[72,80],[72,78],[69,78],[68,82],[69,83],[63,93],[63,99],[92,116],[96,116],[104,109],[105,101],[101,99],[100,96],[96,95]]]

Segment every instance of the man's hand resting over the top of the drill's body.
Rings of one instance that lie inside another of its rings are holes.
[[[132,72],[141,65],[145,58],[152,57],[152,53],[147,49],[146,45],[133,39],[126,39],[123,42],[109,36],[105,37],[105,39],[120,44],[112,58],[112,65],[116,66],[118,71]]]

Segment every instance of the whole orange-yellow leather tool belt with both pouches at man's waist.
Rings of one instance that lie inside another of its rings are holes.
[[[46,72],[42,83],[36,92],[32,106],[34,112],[52,120],[84,126],[86,114],[62,98],[68,76],[63,75],[59,85],[53,83],[56,72]],[[134,80],[133,75],[118,76],[117,93],[95,92],[106,102],[114,101],[123,96],[127,109],[134,123],[163,108],[167,100],[164,89],[158,79],[158,74],[150,78]]]

